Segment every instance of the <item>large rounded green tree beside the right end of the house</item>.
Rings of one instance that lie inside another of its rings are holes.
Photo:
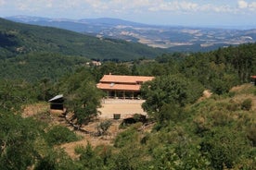
[[[171,108],[172,104],[173,106],[175,104],[185,106],[186,103],[195,102],[202,94],[203,87],[198,82],[186,79],[182,75],[168,75],[148,81],[143,84],[141,91],[146,99],[143,108],[153,115],[160,113],[160,119],[162,119],[168,118],[167,112],[169,111],[166,108]],[[171,105],[168,106],[168,104]],[[173,109],[177,110],[175,107]]]

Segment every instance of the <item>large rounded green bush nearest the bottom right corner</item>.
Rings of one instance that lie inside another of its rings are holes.
[[[236,142],[235,142],[236,141]],[[215,128],[201,143],[201,152],[211,160],[216,169],[233,168],[246,156],[249,143],[242,133],[227,128]]]

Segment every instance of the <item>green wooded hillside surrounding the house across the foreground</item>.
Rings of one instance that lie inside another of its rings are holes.
[[[255,169],[256,87],[249,83],[256,75],[255,49],[249,43],[100,67],[84,67],[83,57],[53,53],[5,57],[0,169]],[[109,72],[156,77],[142,86],[147,121],[122,125],[109,145],[77,146],[70,157],[59,146],[81,140],[75,130],[53,124],[48,110],[22,116],[28,104],[62,93],[76,129],[87,125],[104,96],[96,82]],[[202,96],[205,90],[210,95]]]

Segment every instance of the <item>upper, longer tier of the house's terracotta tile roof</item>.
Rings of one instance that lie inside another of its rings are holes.
[[[109,83],[132,83],[145,82],[152,80],[154,77],[146,76],[120,76],[120,75],[104,75],[100,82],[109,82]]]

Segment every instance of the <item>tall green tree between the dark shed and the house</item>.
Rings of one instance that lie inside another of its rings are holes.
[[[74,113],[79,125],[88,123],[97,115],[102,93],[96,88],[96,82],[88,68],[81,68],[76,73],[65,77],[58,84],[58,93],[66,96],[66,106]]]

